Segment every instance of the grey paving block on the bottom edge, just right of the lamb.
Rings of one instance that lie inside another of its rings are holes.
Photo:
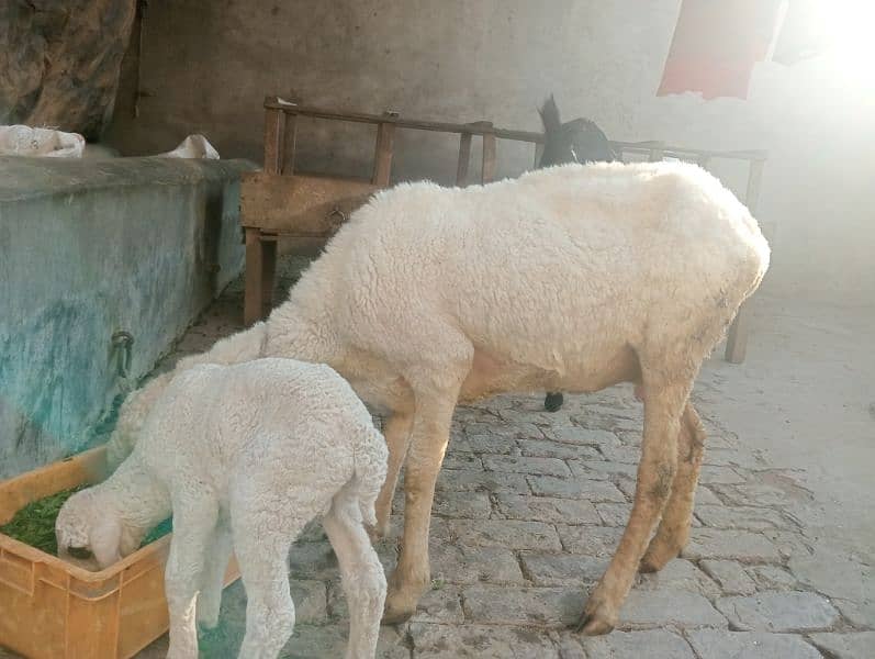
[[[546,632],[480,625],[412,623],[410,636],[416,659],[558,659]]]

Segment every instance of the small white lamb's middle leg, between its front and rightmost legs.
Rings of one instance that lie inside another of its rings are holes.
[[[276,659],[294,632],[294,602],[289,590],[289,548],[309,521],[312,501],[294,493],[273,493],[255,477],[248,491],[232,498],[234,551],[246,589],[246,634],[239,659]],[[270,492],[267,495],[266,492]],[[257,493],[257,495],[256,495]]]

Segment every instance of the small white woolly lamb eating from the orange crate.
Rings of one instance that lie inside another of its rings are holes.
[[[294,627],[289,548],[325,515],[349,603],[347,657],[373,657],[385,576],[362,520],[374,521],[386,456],[371,415],[327,366],[197,366],[156,396],[119,469],[66,502],[58,548],[106,567],[172,511],[168,657],[198,656],[195,599],[197,621],[215,626],[233,548],[248,597],[239,657],[267,659]]]

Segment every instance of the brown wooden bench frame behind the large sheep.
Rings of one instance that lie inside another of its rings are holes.
[[[295,174],[294,146],[299,116],[375,125],[377,141],[371,178],[362,180]],[[327,239],[373,192],[388,188],[392,174],[394,137],[399,129],[458,134],[458,186],[464,186],[468,181],[474,136],[483,142],[479,176],[481,183],[490,182],[495,177],[498,139],[532,144],[532,166],[537,166],[543,150],[542,133],[497,129],[487,121],[461,124],[402,119],[391,111],[379,115],[339,112],[299,105],[279,97],[267,97],[263,170],[244,174],[240,187],[240,222],[246,242],[244,321],[247,325],[270,313],[279,236]],[[706,168],[716,158],[747,160],[748,185],[742,201],[752,213],[755,212],[766,159],[764,152],[708,152],[668,146],[662,142],[612,142],[612,146],[620,158],[626,154],[644,156],[650,161],[671,157],[698,163]],[[747,335],[748,312],[742,308],[727,336],[728,361],[743,361]]]

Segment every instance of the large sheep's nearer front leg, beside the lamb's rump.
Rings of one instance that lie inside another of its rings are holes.
[[[435,483],[450,436],[456,399],[416,401],[411,447],[404,472],[404,537],[399,565],[389,580],[383,622],[400,623],[416,611],[431,581],[428,528]]]

